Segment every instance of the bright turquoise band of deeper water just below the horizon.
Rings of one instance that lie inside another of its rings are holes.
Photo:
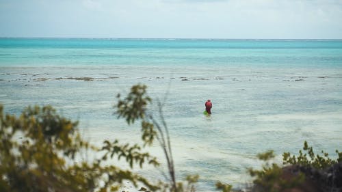
[[[340,40],[1,39],[1,65],[340,66]]]

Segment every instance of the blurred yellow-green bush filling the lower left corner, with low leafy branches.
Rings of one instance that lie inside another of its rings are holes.
[[[81,159],[86,151],[104,155],[89,163]],[[158,189],[130,170],[104,166],[114,156],[131,167],[158,164],[139,146],[118,141],[105,141],[101,149],[90,146],[81,139],[77,122],[57,115],[52,107],[28,107],[16,117],[5,115],[0,106],[0,191],[117,191],[124,180]]]

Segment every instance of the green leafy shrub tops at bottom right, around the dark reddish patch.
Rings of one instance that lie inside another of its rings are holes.
[[[299,151],[299,156],[291,155],[289,152],[282,154],[283,165],[298,165],[306,168],[315,169],[326,169],[337,163],[342,162],[342,152],[337,152],[337,159],[333,160],[329,158],[328,153],[321,151],[324,156],[315,154],[313,148],[308,146],[308,143],[304,141],[302,150]],[[265,161],[261,170],[248,169],[250,176],[254,178],[253,182],[255,184],[254,188],[256,191],[283,191],[285,189],[291,189],[293,187],[298,187],[305,180],[305,174],[299,172],[292,178],[285,177],[284,168],[276,163],[269,163],[271,159],[274,158],[273,150],[269,150],[263,154],[258,154],[258,159]]]

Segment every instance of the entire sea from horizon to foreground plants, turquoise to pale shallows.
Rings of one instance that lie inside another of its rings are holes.
[[[156,117],[163,102],[177,179],[199,174],[198,191],[218,180],[244,189],[267,150],[278,163],[304,141],[332,158],[342,150],[342,40],[0,38],[5,112],[53,105],[96,145],[141,143],[139,124],[113,114],[137,83]],[[157,143],[145,150],[163,163]],[[162,180],[166,165],[136,171]]]

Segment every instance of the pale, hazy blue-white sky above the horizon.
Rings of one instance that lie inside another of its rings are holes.
[[[342,0],[0,0],[0,37],[342,39]]]

